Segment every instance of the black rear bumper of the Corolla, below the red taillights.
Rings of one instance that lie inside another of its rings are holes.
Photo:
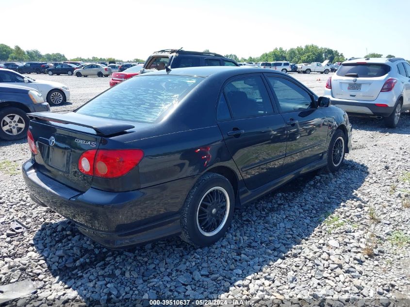
[[[73,190],[37,172],[32,161],[22,168],[32,199],[73,221],[79,230],[112,249],[180,233],[180,210],[191,184],[188,177],[129,192],[90,188]]]

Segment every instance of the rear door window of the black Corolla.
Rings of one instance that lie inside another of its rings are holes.
[[[231,81],[225,86],[224,94],[234,118],[273,113],[269,94],[260,76]]]

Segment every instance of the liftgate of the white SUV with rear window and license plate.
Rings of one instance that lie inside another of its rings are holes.
[[[332,77],[332,97],[374,101],[388,79],[390,66],[377,63],[345,63]]]

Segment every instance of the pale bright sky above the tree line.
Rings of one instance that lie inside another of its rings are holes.
[[[409,12],[408,0],[0,0],[0,43],[69,59],[181,47],[247,58],[306,44],[410,59]]]

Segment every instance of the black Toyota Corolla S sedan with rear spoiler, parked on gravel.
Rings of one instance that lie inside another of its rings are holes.
[[[189,67],[130,78],[71,113],[32,113],[35,202],[110,248],[220,239],[234,208],[351,147],[346,113],[279,71]]]

